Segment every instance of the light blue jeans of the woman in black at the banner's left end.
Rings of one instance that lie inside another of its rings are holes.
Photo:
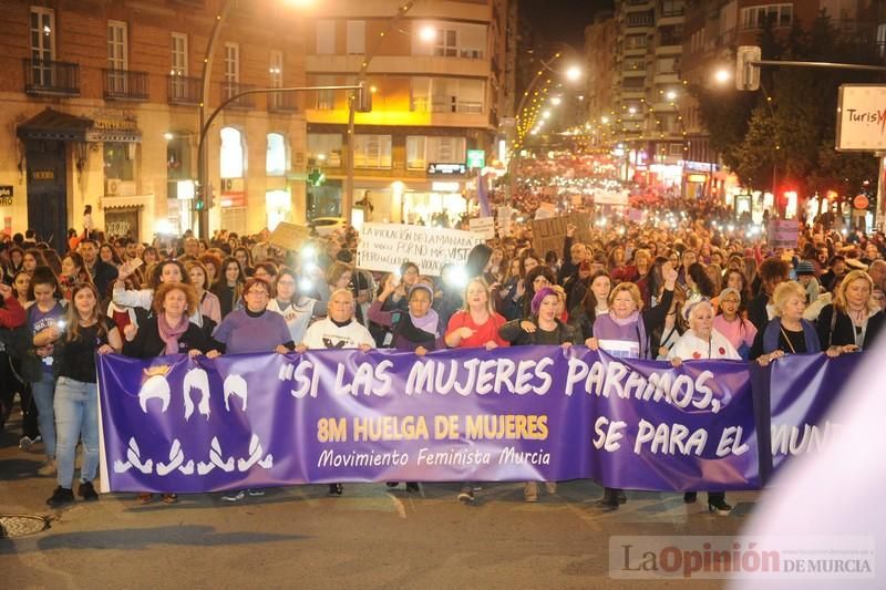
[[[92,482],[99,470],[99,387],[70,377],[55,384],[55,422],[59,428],[56,466],[59,485],[71,488],[74,480],[76,442],[83,443],[82,482]]]

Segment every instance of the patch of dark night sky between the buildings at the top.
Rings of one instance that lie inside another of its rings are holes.
[[[585,27],[600,9],[611,9],[612,0],[521,0],[521,19],[533,25],[548,41],[566,41],[581,46]]]

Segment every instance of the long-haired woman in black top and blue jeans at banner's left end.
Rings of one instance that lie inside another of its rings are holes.
[[[58,381],[53,407],[58,429],[55,458],[59,486],[47,500],[50,506],[74,501],[78,441],[83,445],[78,495],[84,500],[99,499],[92,485],[99,470],[95,354],[119,352],[123,346],[116,324],[101,310],[99,291],[92,282],[80,282],[73,287],[64,320],[64,334],[55,341],[54,350]]]

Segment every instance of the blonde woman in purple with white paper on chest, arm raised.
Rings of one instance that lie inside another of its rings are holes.
[[[607,354],[624,359],[652,359],[649,334],[664,320],[673,301],[673,288],[678,273],[670,262],[662,265],[664,291],[655,308],[642,311],[640,290],[636,284],[622,282],[609,294],[609,313],[598,315],[594,322],[594,338],[586,342],[590,350],[602,350]],[[607,509],[617,509],[627,501],[625,491],[604,488],[598,504]]]

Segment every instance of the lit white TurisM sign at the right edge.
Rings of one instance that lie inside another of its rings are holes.
[[[843,84],[838,100],[836,148],[886,149],[886,86]]]

